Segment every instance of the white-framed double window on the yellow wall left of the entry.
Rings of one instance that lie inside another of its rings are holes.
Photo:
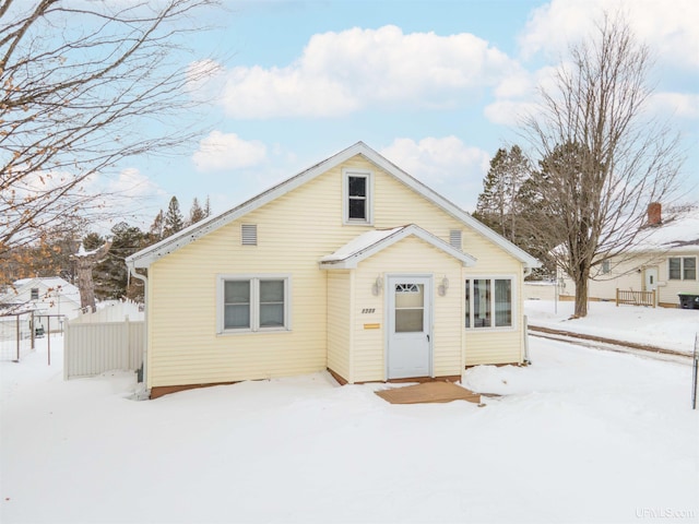
[[[218,332],[289,329],[288,276],[221,276]]]

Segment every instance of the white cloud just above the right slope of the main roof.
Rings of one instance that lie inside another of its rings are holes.
[[[396,139],[380,153],[410,175],[466,210],[475,207],[488,170],[487,152],[457,136]]]

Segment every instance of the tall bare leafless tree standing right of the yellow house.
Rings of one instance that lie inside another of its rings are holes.
[[[648,204],[671,198],[683,158],[677,133],[648,112],[649,48],[623,16],[605,14],[569,58],[540,90],[523,135],[545,171],[536,189],[545,219],[532,221],[531,235],[562,234],[552,254],[576,283],[574,315],[585,317],[591,269],[643,235]]]

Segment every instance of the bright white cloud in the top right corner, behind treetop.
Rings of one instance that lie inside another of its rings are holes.
[[[685,68],[699,66],[696,0],[552,0],[530,16],[520,36],[522,53],[531,57],[540,51],[565,52],[571,41],[594,31],[604,11],[614,15],[617,10],[661,62]]]

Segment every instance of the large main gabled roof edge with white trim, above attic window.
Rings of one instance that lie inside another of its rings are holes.
[[[299,172],[298,175],[274,186],[271,189],[253,196],[252,199],[244,202],[242,204],[226,211],[220,215],[205,218],[197,224],[193,224],[181,231],[168,237],[159,242],[147,247],[138,253],[134,253],[126,259],[127,265],[130,267],[147,267],[153,262],[157,261],[162,257],[171,253],[173,251],[178,250],[179,248],[187,246],[204,235],[218,229],[226,224],[229,224],[241,216],[261,207],[262,205],[272,202],[273,200],[293,191],[294,189],[303,186],[304,183],[312,180],[313,178],[322,175],[323,172],[332,169],[333,167],[342,164],[343,162],[348,160],[353,156],[362,155],[367,160],[375,164],[380,169],[384,170],[392,177],[394,177],[400,182],[404,183],[408,188],[413,189],[420,195],[423,195],[428,201],[433,202],[438,207],[441,207],[445,212],[449,213],[453,217],[463,222],[465,225],[478,231],[484,237],[488,238],[499,247],[501,247],[505,251],[510,253],[512,257],[523,262],[529,267],[538,267],[540,262],[534,259],[532,255],[518,248],[510,241],[502,238],[500,235],[495,233],[493,229],[486,227],[481,222],[473,218],[469,213],[448,201],[440,194],[436,193],[427,186],[418,181],[417,179],[411,177],[408,174],[403,171],[401,168],[395,166],[393,163],[381,156],[379,153],[374,151],[371,147],[366,145],[364,142],[357,142],[356,144],[347,147],[346,150],[341,151],[340,153],[334,154],[333,156],[316,164],[315,166],[306,169],[305,171]]]

